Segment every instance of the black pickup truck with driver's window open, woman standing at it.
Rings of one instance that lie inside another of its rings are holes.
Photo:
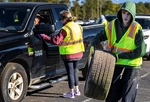
[[[62,27],[59,21],[62,10],[68,7],[44,2],[0,3],[0,102],[20,102],[29,88],[40,89],[67,79],[58,46],[39,36],[58,33]],[[42,19],[35,29],[37,14]],[[94,51],[91,41],[102,28],[98,24],[83,27],[85,52],[78,68],[84,78]]]

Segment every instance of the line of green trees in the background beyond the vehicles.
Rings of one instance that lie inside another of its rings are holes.
[[[100,15],[117,14],[122,4],[111,0],[0,0],[0,2],[48,2],[63,3],[69,7],[71,13],[79,20],[96,20]],[[150,14],[150,2],[136,3],[137,14]]]

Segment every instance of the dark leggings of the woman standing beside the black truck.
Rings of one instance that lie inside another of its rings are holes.
[[[69,88],[73,89],[74,86],[78,85],[79,77],[78,77],[78,60],[77,61],[64,61],[66,71],[68,74],[68,84]]]

